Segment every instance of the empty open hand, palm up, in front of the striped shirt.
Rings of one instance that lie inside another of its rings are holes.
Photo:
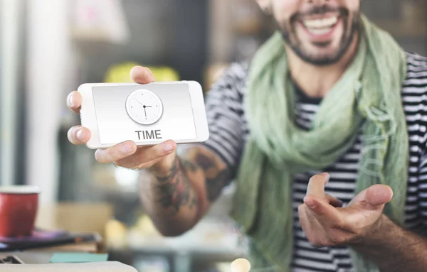
[[[313,246],[357,244],[381,224],[384,206],[393,197],[386,185],[373,185],[341,207],[341,202],[325,195],[329,175],[313,176],[304,203],[298,207],[301,227]]]

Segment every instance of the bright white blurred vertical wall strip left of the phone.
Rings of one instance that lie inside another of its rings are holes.
[[[73,70],[68,0],[28,0],[26,115],[27,183],[41,187],[40,201],[56,200],[58,129]]]

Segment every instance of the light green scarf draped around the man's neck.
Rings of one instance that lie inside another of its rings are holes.
[[[389,185],[394,197],[384,213],[403,226],[409,156],[401,100],[406,58],[389,34],[362,16],[355,58],[322,99],[310,131],[295,125],[295,89],[280,33],[258,50],[249,72],[245,106],[251,134],[231,215],[251,238],[252,267],[290,271],[292,177],[332,165],[360,129],[356,193],[374,184]],[[352,258],[358,272],[379,271],[354,251]]]

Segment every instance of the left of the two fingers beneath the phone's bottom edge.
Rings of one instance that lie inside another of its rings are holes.
[[[125,141],[107,149],[98,149],[95,158],[99,163],[112,163],[122,158],[132,156],[137,151],[137,145],[133,141]]]

